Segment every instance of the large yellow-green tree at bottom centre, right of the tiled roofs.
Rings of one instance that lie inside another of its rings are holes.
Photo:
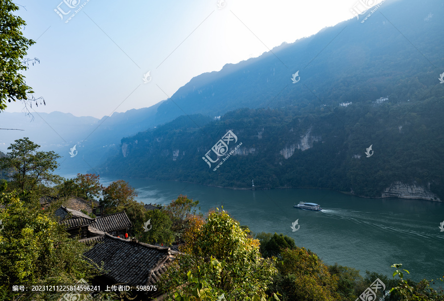
[[[265,300],[277,270],[272,260],[261,258],[259,241],[224,211],[211,213],[206,223],[190,220],[184,252],[161,281],[171,292],[168,300],[216,300],[199,297],[210,291],[226,300]]]

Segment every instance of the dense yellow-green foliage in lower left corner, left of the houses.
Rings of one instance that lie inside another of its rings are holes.
[[[0,212],[0,299],[12,300],[19,294],[12,285],[75,283],[96,274],[83,259],[85,246],[68,238],[45,211],[24,203],[12,194],[2,193]]]

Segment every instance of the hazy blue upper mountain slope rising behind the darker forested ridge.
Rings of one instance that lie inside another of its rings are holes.
[[[385,1],[364,23],[367,14],[192,78],[159,106],[156,118],[218,116],[244,107],[313,108],[386,95],[421,99],[421,88],[439,83],[444,71],[443,13],[439,0]],[[300,80],[292,84],[297,71]]]

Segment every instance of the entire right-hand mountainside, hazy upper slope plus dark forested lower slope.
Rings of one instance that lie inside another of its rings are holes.
[[[443,12],[436,0],[386,1],[364,23],[360,16],[193,78],[157,114],[184,106],[221,113],[220,120],[182,116],[124,138],[119,154],[99,170],[231,188],[251,188],[254,179],[256,188],[331,188],[370,197],[406,190],[407,197],[444,199],[438,79],[444,33],[437,17]],[[228,130],[242,145],[216,157],[211,148]],[[219,160],[207,163],[207,151]]]

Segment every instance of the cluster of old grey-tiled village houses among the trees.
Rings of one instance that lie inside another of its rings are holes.
[[[50,197],[40,198],[42,207],[52,201]],[[106,274],[94,279],[101,287],[117,287],[118,285],[156,286],[160,276],[178,253],[177,246],[172,248],[141,243],[128,237],[132,223],[124,211],[103,215],[103,208],[97,203],[96,209],[83,199],[72,197],[58,208],[54,215],[60,224],[73,238],[78,238],[92,248],[84,256],[102,266]],[[71,207],[71,208],[70,208]],[[144,206],[146,210],[159,210],[151,204]],[[82,210],[82,211],[80,211]],[[85,214],[93,213],[96,218]],[[146,291],[144,300],[159,299],[158,291]],[[161,298],[162,296],[160,296]]]

